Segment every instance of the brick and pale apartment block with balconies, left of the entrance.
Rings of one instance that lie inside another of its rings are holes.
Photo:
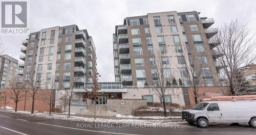
[[[96,72],[95,45],[87,30],[77,25],[55,26],[29,34],[20,51],[23,80],[31,71],[41,73],[41,88],[49,89],[55,79],[56,89],[83,88]]]

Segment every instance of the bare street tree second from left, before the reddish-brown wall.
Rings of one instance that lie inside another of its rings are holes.
[[[44,72],[31,68],[29,74],[25,76],[25,82],[28,87],[28,95],[32,98],[31,114],[34,114],[35,100],[40,98],[39,91],[41,89],[42,82],[44,81]]]

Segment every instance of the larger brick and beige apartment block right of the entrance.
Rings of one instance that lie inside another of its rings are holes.
[[[214,39],[218,31],[210,28],[214,19],[199,14],[172,11],[126,17],[113,34],[115,81],[124,86],[155,85],[158,78],[154,71],[161,61],[166,65],[166,82],[175,77],[187,85],[188,74],[197,79],[194,71],[200,70],[203,85],[218,84],[222,68],[216,62],[222,55],[214,49],[220,44]]]

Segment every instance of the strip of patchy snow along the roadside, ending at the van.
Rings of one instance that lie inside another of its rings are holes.
[[[27,116],[47,118],[47,119],[70,120],[70,121],[89,122],[89,123],[95,122],[95,123],[112,123],[112,124],[140,124],[140,125],[146,124],[147,126],[156,126],[156,125],[172,126],[175,124],[183,123],[183,121],[173,122],[168,120],[101,119],[101,118],[94,119],[94,118],[77,117],[77,116],[67,117],[65,115],[57,115],[57,114],[52,114],[51,116],[49,116],[46,113],[31,114],[30,112],[25,112],[25,111],[14,112],[13,110],[8,110],[7,112],[14,113],[14,114],[22,114]],[[154,117],[154,118],[157,118],[157,117]]]

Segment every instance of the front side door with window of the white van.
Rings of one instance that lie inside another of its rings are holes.
[[[222,112],[218,103],[210,103],[206,109],[209,122],[222,122]]]

